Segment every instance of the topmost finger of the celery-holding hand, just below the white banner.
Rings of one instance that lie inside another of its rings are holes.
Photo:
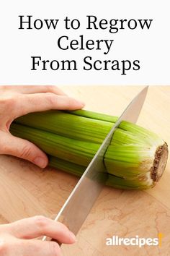
[[[55,85],[6,85],[4,90],[13,90],[17,93],[55,93],[57,95],[66,95],[60,88]]]

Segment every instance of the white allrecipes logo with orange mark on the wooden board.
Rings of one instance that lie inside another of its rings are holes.
[[[144,238],[144,237],[139,237],[138,235],[135,237],[119,237],[119,236],[112,236],[106,239],[106,245],[112,245],[112,246],[117,246],[117,245],[125,245],[125,246],[138,246],[138,247],[143,247],[144,245],[148,246],[159,246],[161,247],[161,242],[162,242],[162,233],[158,234],[158,237],[155,238]]]

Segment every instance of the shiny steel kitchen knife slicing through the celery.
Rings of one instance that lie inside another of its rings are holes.
[[[148,86],[138,93],[129,103],[125,111],[122,112],[119,119],[110,129],[107,137],[102,142],[94,158],[89,163],[89,166],[84,171],[84,174],[79,179],[79,182],[74,187],[63,207],[55,218],[55,221],[60,221],[70,229],[73,234],[77,234],[88,216],[91,208],[96,202],[104,183],[107,181],[107,172],[104,168],[104,154],[109,146],[112,135],[115,129],[119,127],[122,120],[135,123],[138,120],[141,108],[146,99]],[[43,236],[42,241],[52,240],[47,236]],[[57,242],[53,239],[53,241]],[[61,245],[61,244],[60,244]]]

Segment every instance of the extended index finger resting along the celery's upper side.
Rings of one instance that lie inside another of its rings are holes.
[[[54,93],[19,95],[15,108],[15,118],[35,111],[50,109],[74,110],[84,107],[84,103],[74,98]]]

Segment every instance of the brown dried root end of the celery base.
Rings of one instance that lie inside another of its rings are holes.
[[[168,153],[169,150],[166,143],[159,146],[156,150],[153,166],[151,167],[151,179],[153,180],[153,184],[156,184],[164,173],[168,160]]]

